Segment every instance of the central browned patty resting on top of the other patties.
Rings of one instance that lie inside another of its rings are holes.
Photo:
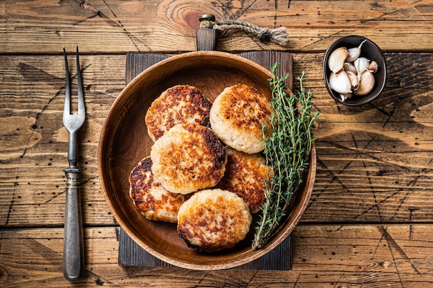
[[[188,194],[216,185],[223,177],[227,154],[214,132],[184,123],[169,129],[150,150],[152,172],[170,192]]]

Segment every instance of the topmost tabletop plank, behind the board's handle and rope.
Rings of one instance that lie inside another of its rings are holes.
[[[385,51],[432,51],[433,1],[241,1],[212,5],[169,1],[2,1],[0,53],[195,51],[199,16],[288,28],[290,51],[323,52],[350,34],[369,37]],[[49,15],[49,16],[48,16]],[[285,50],[255,35],[228,31],[220,51]]]

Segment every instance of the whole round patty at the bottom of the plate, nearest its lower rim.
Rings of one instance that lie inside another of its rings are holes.
[[[214,252],[243,240],[251,219],[241,197],[221,189],[206,189],[196,192],[179,208],[177,231],[188,246]]]

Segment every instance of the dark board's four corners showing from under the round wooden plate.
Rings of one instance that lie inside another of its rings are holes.
[[[249,60],[270,69],[275,62],[280,66],[277,75],[289,73],[288,87],[293,90],[293,56],[284,51],[253,51],[239,54]],[[126,82],[129,83],[139,73],[147,69],[152,64],[156,64],[169,57],[163,54],[154,53],[129,53],[126,64]],[[120,266],[136,267],[174,267],[162,260],[154,257],[145,249],[142,249],[131,237],[120,228],[119,235],[119,258]],[[243,264],[234,269],[238,270],[278,270],[288,271],[292,268],[292,240],[289,235],[286,240],[280,243],[275,249],[248,264]]]

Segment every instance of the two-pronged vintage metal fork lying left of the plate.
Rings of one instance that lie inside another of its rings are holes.
[[[80,59],[77,46],[77,96],[78,109],[71,114],[71,82],[69,79],[68,57],[63,47],[66,69],[66,88],[63,110],[63,125],[68,130],[68,161],[66,174],[66,207],[64,216],[64,244],[63,244],[63,273],[69,281],[79,280],[84,268],[84,240],[82,228],[82,214],[80,201],[81,170],[77,167],[77,131],[82,127],[85,115],[84,93],[82,87]]]

